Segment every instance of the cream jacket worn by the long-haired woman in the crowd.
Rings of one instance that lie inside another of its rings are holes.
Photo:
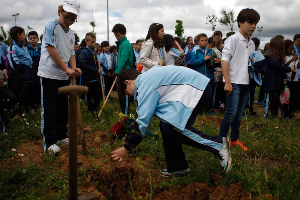
[[[163,58],[166,58],[165,47],[163,47]],[[140,62],[143,65],[142,73],[146,72],[151,67],[158,65],[161,59],[159,50],[154,47],[154,42],[151,38],[146,42],[143,42],[140,53]]]

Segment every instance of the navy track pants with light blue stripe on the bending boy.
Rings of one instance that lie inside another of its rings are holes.
[[[182,144],[209,151],[213,154],[217,154],[222,148],[223,140],[221,136],[206,135],[202,133],[202,131],[192,127],[197,115],[206,106],[210,99],[211,86],[208,84],[182,133],[178,132],[172,125],[163,121],[160,122],[159,127],[161,129],[161,135],[164,143],[168,172],[185,170],[188,168],[187,161],[185,160],[185,154],[182,150]]]

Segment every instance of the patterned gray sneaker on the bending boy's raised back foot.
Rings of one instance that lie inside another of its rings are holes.
[[[222,172],[226,174],[229,172],[231,167],[231,155],[229,151],[229,139],[227,137],[223,137],[222,148],[215,157],[219,160]]]

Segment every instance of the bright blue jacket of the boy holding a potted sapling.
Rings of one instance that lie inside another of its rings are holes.
[[[215,52],[214,50],[208,49],[207,47],[205,47],[205,49],[196,49],[196,51],[193,52],[192,58],[190,59],[190,64],[192,64],[192,69],[198,71],[207,78],[214,80],[215,70],[207,68],[206,62],[204,60],[204,56],[208,54],[213,55],[215,54]]]

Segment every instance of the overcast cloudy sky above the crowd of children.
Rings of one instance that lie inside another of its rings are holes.
[[[42,34],[45,25],[58,18],[57,10],[61,0],[1,0],[0,25],[9,30],[15,25],[14,13],[20,13],[16,19],[16,25],[26,30],[27,25]],[[97,42],[107,40],[107,1],[106,0],[79,0],[80,18],[70,28],[80,38],[84,38],[87,32],[92,31],[92,7],[94,10],[95,32]],[[221,7],[233,8],[235,18],[243,8],[252,7],[260,14],[258,27],[263,27],[260,33],[261,46],[263,48],[271,37],[282,34],[286,39],[291,39],[300,33],[300,0],[261,1],[261,0],[109,0],[109,40],[115,45],[116,38],[111,32],[113,25],[122,23],[127,29],[127,38],[130,42],[146,37],[149,25],[161,23],[166,34],[175,36],[176,20],[182,20],[184,35],[194,37],[199,33],[212,35],[205,17],[219,15]],[[227,27],[217,23],[216,30],[223,32],[223,37],[229,32]],[[256,29],[257,30],[257,29]],[[238,31],[235,23],[234,31]],[[258,31],[252,37],[259,37]]]

